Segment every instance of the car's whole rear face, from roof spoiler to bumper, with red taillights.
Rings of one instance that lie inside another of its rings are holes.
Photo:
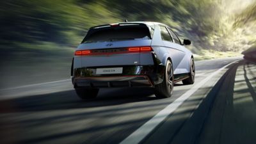
[[[74,88],[154,86],[154,25],[119,23],[90,28],[75,52]]]

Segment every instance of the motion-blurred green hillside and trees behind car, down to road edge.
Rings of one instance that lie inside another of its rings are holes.
[[[240,56],[256,44],[255,0],[4,0],[0,88],[68,79],[92,26],[156,21],[189,38],[196,60]]]

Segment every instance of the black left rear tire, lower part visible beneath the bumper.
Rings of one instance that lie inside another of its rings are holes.
[[[99,93],[99,88],[76,88],[76,94],[81,99],[94,99]]]

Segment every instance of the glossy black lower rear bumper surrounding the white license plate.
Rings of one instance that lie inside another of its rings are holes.
[[[119,67],[123,67],[122,74],[102,75],[96,74],[96,68],[100,67],[74,68],[74,88],[152,87],[163,81],[164,68],[154,65]]]

